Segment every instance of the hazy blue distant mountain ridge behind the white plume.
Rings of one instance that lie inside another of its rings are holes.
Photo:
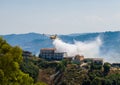
[[[99,35],[101,36],[101,39],[103,41],[101,53],[105,54],[111,51],[115,53],[120,53],[120,31],[73,33],[58,36],[64,42],[74,43],[74,40],[83,42],[88,40],[94,40]],[[49,39],[48,34],[47,35],[39,33],[9,34],[3,35],[3,37],[12,46],[18,45],[24,50],[31,51],[33,54],[38,54],[41,48],[53,47],[52,40]]]

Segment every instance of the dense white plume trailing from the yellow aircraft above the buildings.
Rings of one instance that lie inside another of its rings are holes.
[[[74,44],[65,43],[60,39],[55,39],[53,45],[57,52],[67,52],[68,56],[83,55],[88,58],[100,57],[100,47],[102,41],[97,37],[94,41],[74,41]]]

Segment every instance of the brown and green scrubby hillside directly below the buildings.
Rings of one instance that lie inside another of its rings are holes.
[[[120,70],[111,70],[109,63],[81,67],[69,60],[32,60],[39,67],[37,81],[48,85],[120,85]]]

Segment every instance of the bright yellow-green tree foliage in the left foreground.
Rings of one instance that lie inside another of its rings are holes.
[[[20,70],[22,59],[22,50],[19,47],[12,47],[0,38],[0,85],[35,84],[29,74]],[[37,83],[37,85],[42,85],[42,83]]]

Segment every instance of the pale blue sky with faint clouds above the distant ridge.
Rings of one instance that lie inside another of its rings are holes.
[[[120,0],[0,0],[0,34],[120,31]]]

